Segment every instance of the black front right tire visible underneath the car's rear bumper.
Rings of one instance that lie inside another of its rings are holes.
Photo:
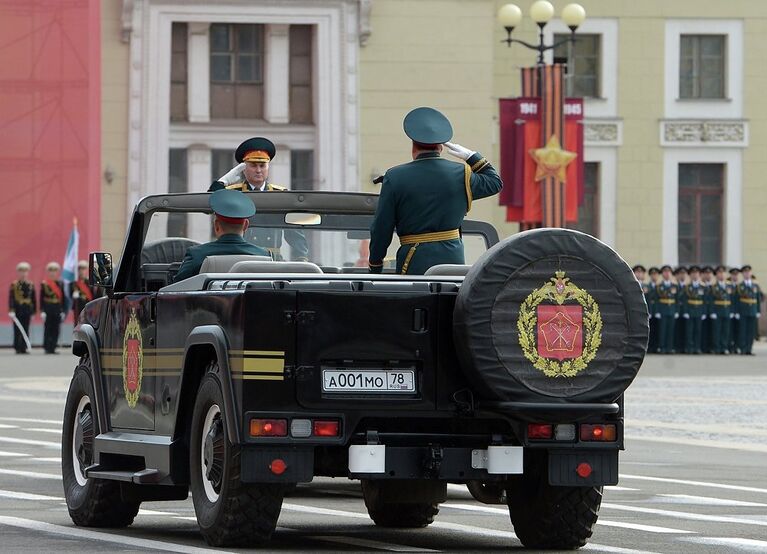
[[[433,498],[414,500],[408,488],[412,481],[362,481],[362,496],[368,515],[379,527],[416,529],[434,523],[439,513],[439,501]],[[397,497],[407,501],[397,501]]]

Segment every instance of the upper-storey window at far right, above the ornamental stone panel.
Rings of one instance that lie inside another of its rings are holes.
[[[724,98],[726,35],[682,35],[680,98]]]

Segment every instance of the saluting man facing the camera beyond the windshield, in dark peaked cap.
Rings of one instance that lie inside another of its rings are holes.
[[[244,141],[234,152],[237,165],[213,181],[208,189],[213,192],[219,189],[240,190],[242,192],[271,192],[284,191],[286,187],[273,185],[269,182],[269,163],[274,159],[277,148],[274,143],[264,137],[253,137]],[[282,259],[282,237],[290,245],[291,257],[296,261],[305,262],[309,258],[309,244],[306,235],[298,229],[277,229],[270,227],[251,227],[245,234],[245,239],[253,242],[272,253],[275,260]]]

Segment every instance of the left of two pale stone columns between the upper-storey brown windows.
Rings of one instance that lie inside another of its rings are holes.
[[[210,23],[187,24],[187,111],[192,123],[210,121]]]

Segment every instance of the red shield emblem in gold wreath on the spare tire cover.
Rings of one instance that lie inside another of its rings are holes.
[[[525,298],[517,330],[533,367],[547,377],[575,377],[602,344],[602,314],[588,292],[557,271]]]

